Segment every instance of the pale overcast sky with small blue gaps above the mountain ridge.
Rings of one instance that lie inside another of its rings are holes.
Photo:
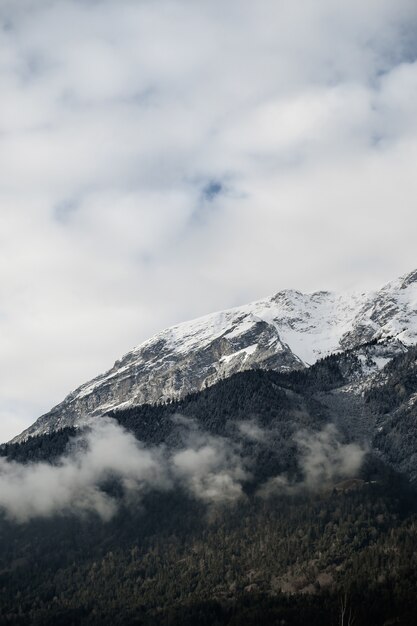
[[[415,0],[0,0],[0,440],[164,326],[417,267]]]

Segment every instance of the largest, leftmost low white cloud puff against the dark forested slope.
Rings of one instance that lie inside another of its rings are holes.
[[[20,522],[91,512],[107,520],[117,508],[102,489],[107,480],[121,480],[125,492],[169,486],[160,453],[110,421],[97,422],[80,443],[56,465],[0,459],[0,508]]]

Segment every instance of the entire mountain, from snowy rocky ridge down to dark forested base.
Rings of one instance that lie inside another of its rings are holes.
[[[413,626],[416,277],[164,331],[0,446],[0,624]]]

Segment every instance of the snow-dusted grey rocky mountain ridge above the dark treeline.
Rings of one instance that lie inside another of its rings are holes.
[[[384,349],[363,357],[368,373],[417,343],[417,270],[374,292],[285,290],[163,330],[70,393],[14,441],[77,426],[116,408],[184,397],[248,369],[303,369],[333,352],[378,340]]]

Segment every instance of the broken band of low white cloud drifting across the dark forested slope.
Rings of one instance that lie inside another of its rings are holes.
[[[140,498],[151,490],[183,489],[208,505],[236,502],[245,497],[253,459],[242,454],[241,440],[214,436],[196,421],[174,418],[181,443],[145,447],[111,419],[102,418],[75,437],[66,454],[54,464],[22,464],[0,459],[0,510],[12,520],[95,513],[109,520],[120,504],[108,487],[116,481],[122,499]],[[256,445],[265,443],[256,422],[243,423],[241,434]],[[265,431],[266,432],[266,431]],[[286,475],[270,478],[258,495],[317,490],[336,479],[353,476],[365,451],[355,443],[343,444],[337,429],[295,435],[302,480]],[[119,490],[118,490],[119,492]]]

